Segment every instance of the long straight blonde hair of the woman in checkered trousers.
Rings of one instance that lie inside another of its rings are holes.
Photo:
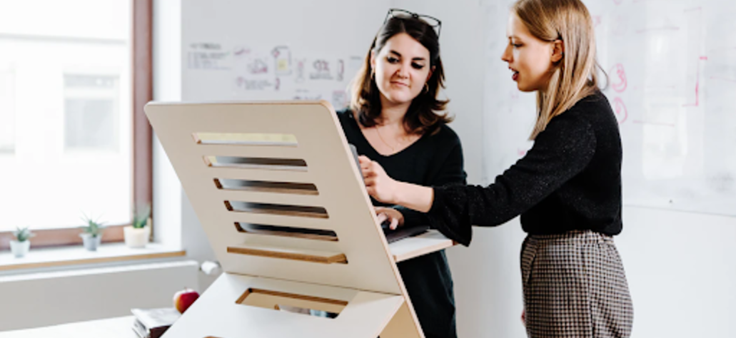
[[[557,115],[598,88],[595,74],[595,32],[580,0],[518,0],[514,12],[539,40],[562,40],[564,54],[554,65],[545,90],[537,91],[537,124],[529,140]]]

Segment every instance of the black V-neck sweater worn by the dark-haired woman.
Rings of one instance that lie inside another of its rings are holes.
[[[363,136],[352,112],[339,112],[338,118],[347,142],[358,148],[358,154],[380,163],[392,178],[425,186],[465,184],[460,139],[450,127],[442,126],[436,134],[424,134],[406,149],[383,156]],[[385,205],[376,201],[373,204]],[[426,214],[403,206],[392,207],[402,213],[406,226],[428,224]],[[426,337],[457,338],[453,278],[445,251],[409,259],[397,266]]]

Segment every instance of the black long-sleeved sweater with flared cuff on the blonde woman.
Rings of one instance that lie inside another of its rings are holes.
[[[534,146],[488,187],[434,187],[428,220],[469,245],[475,226],[521,215],[529,234],[621,232],[621,141],[611,106],[597,92],[552,118]]]

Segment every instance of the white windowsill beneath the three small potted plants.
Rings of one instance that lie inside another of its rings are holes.
[[[185,255],[186,251],[180,248],[171,248],[157,243],[149,243],[146,248],[128,248],[123,243],[102,244],[97,251],[87,251],[82,245],[31,248],[31,251],[23,258],[15,258],[10,251],[0,253],[0,273],[9,270],[163,259]]]

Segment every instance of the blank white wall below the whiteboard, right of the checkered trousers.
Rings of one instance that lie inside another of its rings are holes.
[[[734,217],[623,212],[616,243],[634,300],[632,337],[736,337]]]

